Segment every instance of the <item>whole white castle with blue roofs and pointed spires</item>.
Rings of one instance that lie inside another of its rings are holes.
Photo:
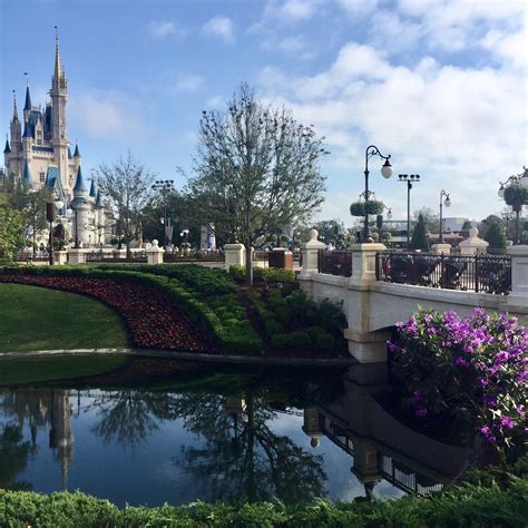
[[[10,140],[6,137],[3,149],[4,175],[28,192],[46,187],[53,201],[65,204],[58,213],[59,222],[66,231],[66,239],[76,241],[84,247],[99,246],[109,237],[111,213],[94,179],[88,188],[82,176],[78,145],[71,155],[66,117],[68,80],[60,62],[58,35],[49,94],[51,100],[46,104],[45,109],[41,105],[33,107],[28,84],[23,124],[19,119],[17,97],[13,96],[11,137]]]

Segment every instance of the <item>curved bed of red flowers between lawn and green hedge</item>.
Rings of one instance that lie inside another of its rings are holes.
[[[160,290],[111,278],[1,275],[0,282],[79,293],[102,301],[126,321],[137,346],[211,352],[211,344]]]

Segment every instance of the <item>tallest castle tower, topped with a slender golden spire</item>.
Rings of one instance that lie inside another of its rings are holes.
[[[56,28],[57,29],[57,28]],[[59,167],[62,187],[68,194],[71,192],[71,178],[69,175],[68,136],[66,127],[66,102],[68,101],[68,80],[60,63],[59,35],[55,38],[55,70],[51,78],[51,137],[55,164]]]

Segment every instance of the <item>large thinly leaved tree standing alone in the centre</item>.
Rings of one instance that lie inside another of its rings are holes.
[[[286,108],[265,106],[243,84],[225,114],[203,113],[196,176],[188,183],[197,216],[247,250],[262,235],[305,222],[323,202],[324,154],[311,126]],[[246,282],[253,282],[250,251]]]

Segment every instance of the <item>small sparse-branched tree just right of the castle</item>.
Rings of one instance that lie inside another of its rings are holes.
[[[119,217],[119,234],[125,237],[127,253],[130,253],[130,242],[141,235],[154,174],[128,153],[113,165],[99,165],[97,178]]]

